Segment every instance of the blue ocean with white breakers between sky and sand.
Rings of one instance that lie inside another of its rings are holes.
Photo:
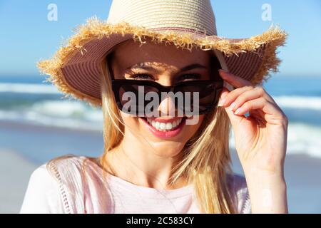
[[[101,131],[100,108],[63,99],[63,94],[44,83],[44,79],[45,76],[0,77],[0,120]],[[320,86],[321,77],[274,76],[264,84],[289,118],[288,153],[321,157]]]

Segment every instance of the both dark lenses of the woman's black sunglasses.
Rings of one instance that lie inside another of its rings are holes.
[[[141,85],[140,83],[123,84],[118,86],[118,106],[125,113],[144,115],[151,113],[158,107],[161,102],[161,95],[158,88],[151,85]],[[165,92],[164,92],[165,93]],[[213,82],[195,82],[182,83],[175,86],[175,90],[171,93],[175,103],[176,110],[180,110],[175,115],[198,115],[206,113],[218,101],[220,86]],[[169,95],[170,93],[168,93]],[[169,96],[171,96],[169,95]],[[163,97],[167,97],[166,95]],[[153,104],[157,103],[157,105]]]

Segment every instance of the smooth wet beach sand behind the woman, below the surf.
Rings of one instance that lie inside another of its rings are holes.
[[[102,150],[99,132],[0,122],[0,213],[19,212],[31,172],[39,165],[59,155],[97,156]],[[235,151],[231,155],[233,170],[242,173]],[[291,213],[321,212],[320,173],[321,159],[287,153],[285,179]]]

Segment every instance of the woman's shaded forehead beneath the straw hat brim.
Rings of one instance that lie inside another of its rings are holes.
[[[177,48],[172,43],[153,43],[150,39],[141,44],[139,41],[129,40],[121,43],[113,51],[113,61],[118,67],[128,68],[136,63],[149,62],[158,66],[174,66],[181,68],[191,63],[207,66],[210,53],[193,48],[192,51]]]

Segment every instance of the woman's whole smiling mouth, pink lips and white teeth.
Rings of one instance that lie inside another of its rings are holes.
[[[148,130],[158,138],[173,138],[180,133],[185,125],[184,118],[158,119],[140,118],[145,123]]]

